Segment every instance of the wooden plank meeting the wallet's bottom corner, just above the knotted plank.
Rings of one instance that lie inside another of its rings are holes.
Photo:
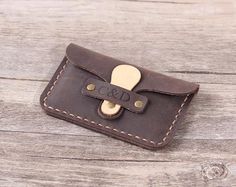
[[[0,131],[1,157],[204,162],[236,161],[236,140],[174,140],[165,149],[149,151],[107,136],[74,136]],[[204,145],[204,146],[203,146]],[[118,154],[119,153],[119,154]],[[198,154],[201,153],[201,154]]]

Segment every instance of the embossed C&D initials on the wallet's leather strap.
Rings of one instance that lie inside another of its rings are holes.
[[[130,95],[127,92],[120,91],[117,89],[111,89],[105,86],[101,86],[100,88],[97,89],[98,93],[101,95],[107,95],[110,98],[115,98],[119,99],[121,101],[129,101],[130,100]]]

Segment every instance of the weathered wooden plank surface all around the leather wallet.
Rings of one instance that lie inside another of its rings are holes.
[[[201,85],[152,152],[47,116],[74,42]],[[0,186],[236,186],[235,0],[1,0]]]

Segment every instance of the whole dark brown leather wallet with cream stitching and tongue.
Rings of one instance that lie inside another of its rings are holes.
[[[70,44],[40,103],[49,115],[154,150],[172,139],[198,89]]]

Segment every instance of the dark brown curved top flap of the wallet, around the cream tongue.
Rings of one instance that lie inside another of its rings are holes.
[[[67,47],[66,57],[75,66],[100,77],[106,82],[110,82],[111,72],[116,66],[127,64],[75,44],[70,44]],[[133,89],[135,92],[151,91],[181,96],[195,93],[199,87],[197,84],[148,71],[142,67],[138,67],[138,69],[141,71],[142,79]]]

